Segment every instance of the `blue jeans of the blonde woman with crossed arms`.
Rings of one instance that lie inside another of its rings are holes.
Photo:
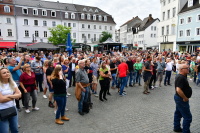
[[[7,120],[0,120],[0,132],[1,133],[18,133],[18,115],[13,116]]]

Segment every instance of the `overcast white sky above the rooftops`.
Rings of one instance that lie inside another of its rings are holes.
[[[112,15],[116,28],[138,16],[141,19],[152,14],[153,18],[160,17],[160,0],[47,0],[95,6]]]

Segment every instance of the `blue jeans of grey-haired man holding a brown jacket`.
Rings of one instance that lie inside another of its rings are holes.
[[[83,102],[87,102],[88,100],[88,92],[89,88],[85,87],[86,92],[81,91],[81,100],[78,102],[78,111],[82,112],[83,110]]]

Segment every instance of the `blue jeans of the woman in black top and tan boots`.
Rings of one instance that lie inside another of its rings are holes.
[[[58,109],[56,111],[56,119],[59,119],[60,116],[65,115],[65,106],[66,106],[66,96],[54,96],[54,100],[57,103]]]

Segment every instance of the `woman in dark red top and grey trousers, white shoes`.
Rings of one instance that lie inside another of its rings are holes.
[[[31,66],[29,64],[25,64],[24,72],[20,76],[20,86],[24,90],[24,105],[25,105],[25,112],[30,113],[28,108],[30,96],[32,97],[32,110],[38,111],[39,108],[36,107],[37,102],[37,83],[35,73],[31,71]]]

